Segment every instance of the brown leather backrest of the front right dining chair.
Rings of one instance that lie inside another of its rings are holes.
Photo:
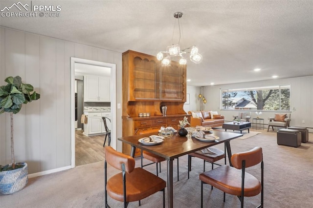
[[[255,166],[263,161],[263,153],[261,147],[254,147],[253,149],[233,154],[231,156],[231,163],[237,169],[242,168],[242,161],[246,161],[246,167]]]

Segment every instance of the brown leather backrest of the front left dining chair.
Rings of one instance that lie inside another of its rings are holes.
[[[122,170],[122,164],[125,164],[126,172],[130,173],[134,170],[134,158],[116,151],[111,146],[105,146],[105,158],[106,162],[116,169]]]

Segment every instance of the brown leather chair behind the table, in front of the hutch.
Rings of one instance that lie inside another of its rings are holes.
[[[158,134],[158,130],[157,129],[145,129],[143,131],[140,131],[139,134],[147,134],[147,133],[151,133],[151,134]],[[149,163],[146,165],[143,165],[143,158],[152,161],[153,163]],[[158,166],[157,164],[159,164],[159,168],[160,168],[160,172],[161,172],[161,162],[165,161],[165,158],[158,156],[154,153],[145,151],[145,150],[141,150],[141,167],[144,166],[149,166],[152,165],[154,163],[156,163],[156,176],[158,176]],[[177,181],[179,181],[179,160],[177,158]]]

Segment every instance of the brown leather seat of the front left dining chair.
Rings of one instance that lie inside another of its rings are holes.
[[[122,173],[113,175],[107,183],[108,194],[117,201],[124,201]],[[144,199],[166,187],[166,182],[155,174],[137,167],[126,173],[126,201]]]

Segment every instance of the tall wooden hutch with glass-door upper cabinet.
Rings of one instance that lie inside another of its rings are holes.
[[[155,56],[128,50],[123,53],[122,75],[122,136],[137,135],[161,126],[178,128],[179,120],[188,117],[183,110],[186,102],[186,65],[171,62],[161,66]],[[167,106],[162,116],[160,106]],[[139,113],[150,113],[139,117]],[[123,153],[130,154],[131,146],[123,143]],[[136,149],[135,156],[140,155]]]

